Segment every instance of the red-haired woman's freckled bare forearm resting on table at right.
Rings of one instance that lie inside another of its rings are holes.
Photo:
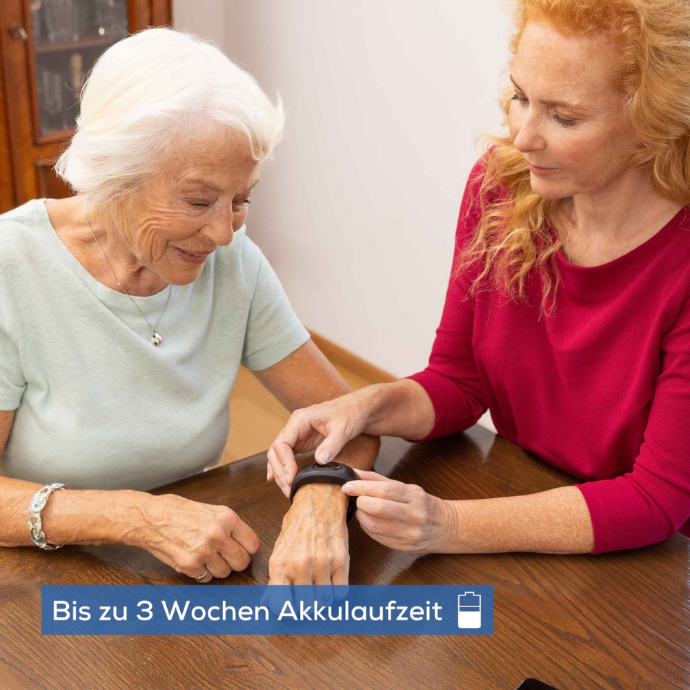
[[[575,486],[447,503],[452,515],[444,553],[591,553],[594,548],[589,509]]]

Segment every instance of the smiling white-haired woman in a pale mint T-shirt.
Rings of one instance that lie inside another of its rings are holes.
[[[0,545],[121,542],[199,582],[249,564],[259,538],[228,506],[146,492],[220,460],[240,363],[291,411],[348,392],[245,233],[283,124],[193,35],[101,55],[56,166],[76,195],[0,216]],[[347,582],[346,500],[295,495],[273,581]]]

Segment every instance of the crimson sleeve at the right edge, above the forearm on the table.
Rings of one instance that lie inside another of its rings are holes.
[[[632,470],[576,485],[592,520],[592,553],[661,542],[690,518],[690,295],[661,351],[662,368]]]

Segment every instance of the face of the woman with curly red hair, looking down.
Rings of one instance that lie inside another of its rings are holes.
[[[532,189],[544,199],[600,192],[627,166],[635,144],[622,96],[607,82],[612,50],[601,37],[566,37],[549,23],[525,27],[509,130],[531,166],[553,168],[531,168]]]

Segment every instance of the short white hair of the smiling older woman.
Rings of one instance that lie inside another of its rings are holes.
[[[107,202],[161,173],[184,141],[231,128],[264,161],[284,112],[211,41],[169,28],[128,36],[97,59],[81,90],[75,135],[55,172]]]

